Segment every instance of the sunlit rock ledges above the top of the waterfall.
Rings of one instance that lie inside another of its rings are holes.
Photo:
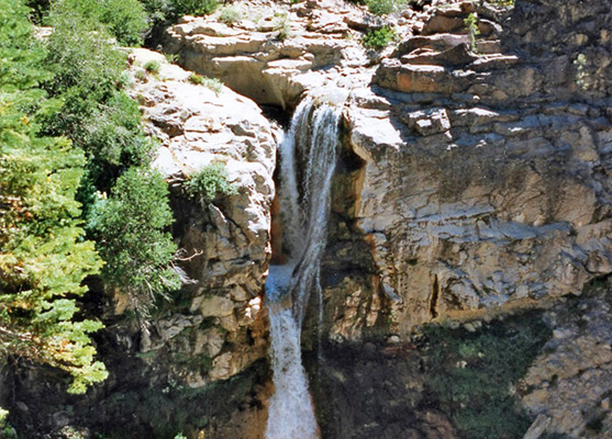
[[[294,108],[305,90],[337,76],[332,67],[350,70],[377,56],[366,53],[352,29],[370,25],[364,12],[343,1],[249,1],[232,8],[241,14],[232,26],[218,15],[183,18],[167,31],[164,50],[259,104]]]

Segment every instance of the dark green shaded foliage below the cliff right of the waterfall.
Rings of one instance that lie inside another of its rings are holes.
[[[537,314],[491,324],[477,333],[425,328],[432,398],[452,417],[461,438],[521,438],[530,419],[515,399],[524,376],[549,338]]]

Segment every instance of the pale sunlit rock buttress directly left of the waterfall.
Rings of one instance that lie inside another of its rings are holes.
[[[188,280],[180,313],[156,318],[141,351],[170,354],[169,369],[189,386],[227,379],[265,358],[267,323],[262,294],[270,257],[270,206],[277,128],[257,105],[225,87],[193,83],[192,74],[163,55],[135,49],[131,93],[143,108],[145,130],[160,140],[153,166],[171,183],[179,267]],[[147,63],[159,64],[156,75]],[[235,194],[202,205],[182,183],[222,162]],[[192,368],[173,358],[196,356]],[[156,357],[151,357],[155,363]]]

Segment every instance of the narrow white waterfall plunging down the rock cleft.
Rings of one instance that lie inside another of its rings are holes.
[[[289,260],[270,266],[266,282],[276,387],[266,439],[319,437],[302,367],[300,333],[311,291],[321,294],[319,273],[326,244],[341,102],[344,99],[332,103],[329,97],[325,101],[305,98],[280,146],[279,199]]]

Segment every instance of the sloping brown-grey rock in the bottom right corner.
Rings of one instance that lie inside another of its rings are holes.
[[[609,288],[609,286],[608,286]],[[542,432],[600,438],[612,431],[612,317],[608,300],[555,306],[545,318],[553,338],[530,368],[523,404]],[[535,429],[535,428],[534,428]]]

